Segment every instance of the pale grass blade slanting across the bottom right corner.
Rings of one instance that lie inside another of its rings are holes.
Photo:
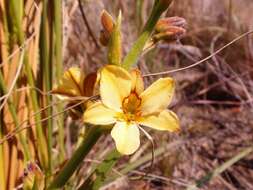
[[[208,173],[201,179],[197,180],[194,185],[191,185],[187,187],[187,190],[197,190],[199,188],[202,188],[204,185],[206,185],[209,181],[211,181],[216,176],[220,175],[222,172],[224,172],[226,169],[231,167],[236,162],[240,161],[242,158],[246,157],[250,153],[253,152],[253,146],[250,146],[248,148],[245,148],[243,151],[241,151],[239,154],[235,155],[231,159],[224,162],[221,166],[214,169],[212,172]]]

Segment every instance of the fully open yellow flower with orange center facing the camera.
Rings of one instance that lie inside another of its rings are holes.
[[[174,93],[172,78],[160,78],[144,90],[138,70],[129,73],[108,65],[100,77],[101,101],[88,106],[83,119],[94,125],[114,124],[111,136],[120,153],[129,155],[139,148],[139,125],[170,132],[179,130],[176,114],[167,110]]]

